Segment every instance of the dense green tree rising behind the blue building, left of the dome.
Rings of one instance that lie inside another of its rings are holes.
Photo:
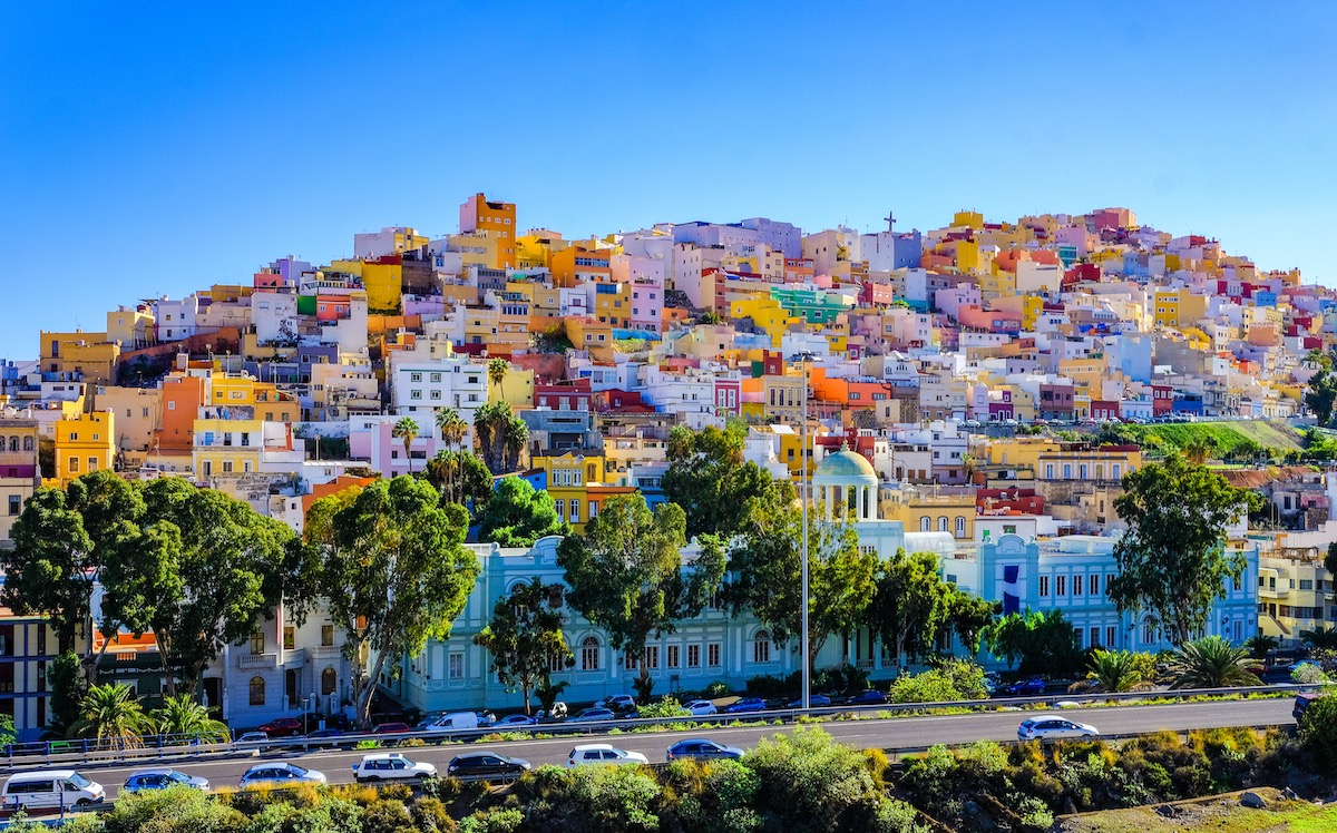
[[[747,501],[762,497],[771,476],[755,463],[743,461],[747,427],[733,421],[721,431],[707,425],[697,432],[685,425],[668,435],[668,469],[660,480],[664,497],[687,513],[687,539],[714,533],[729,536],[742,529]]]

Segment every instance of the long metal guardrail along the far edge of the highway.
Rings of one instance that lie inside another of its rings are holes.
[[[969,701],[935,701],[927,703],[878,703],[868,706],[821,706],[816,709],[765,709],[759,711],[722,711],[719,714],[707,715],[683,715],[683,717],[635,717],[635,718],[618,718],[611,721],[562,721],[552,723],[533,723],[533,725],[507,725],[507,726],[479,726],[477,729],[452,729],[449,731],[398,731],[398,733],[350,733],[341,734],[337,737],[328,738],[308,738],[308,737],[291,737],[291,738],[271,738],[267,741],[247,741],[245,743],[227,742],[227,743],[201,743],[201,742],[182,742],[189,738],[182,738],[180,735],[163,735],[163,737],[150,737],[146,738],[146,745],[131,749],[106,749],[99,747],[91,741],[56,741],[56,742],[43,742],[27,746],[44,746],[44,751],[33,749],[24,754],[21,747],[24,745],[11,745],[7,747],[7,755],[4,763],[0,763],[0,769],[5,770],[19,770],[19,769],[37,769],[53,765],[83,765],[83,766],[108,766],[116,763],[134,763],[138,761],[143,762],[163,762],[163,761],[182,761],[182,759],[198,759],[202,757],[210,758],[226,758],[226,757],[254,757],[265,753],[283,753],[283,751],[310,751],[313,749],[356,749],[360,743],[366,741],[376,741],[380,745],[390,746],[401,743],[410,739],[421,739],[425,745],[431,743],[465,743],[471,741],[479,741],[488,735],[496,735],[501,733],[507,734],[545,734],[545,735],[594,735],[604,734],[611,729],[638,729],[646,726],[675,726],[675,725],[731,725],[731,723],[747,723],[754,721],[781,721],[782,723],[793,723],[800,718],[834,718],[842,714],[877,714],[881,711],[889,713],[910,713],[910,711],[927,711],[935,709],[969,709],[972,711],[1000,711],[1005,709],[1021,709],[1025,706],[1040,706],[1040,705],[1054,705],[1054,703],[1067,703],[1075,702],[1078,705],[1099,705],[1108,702],[1138,702],[1147,699],[1181,699],[1187,701],[1199,697],[1239,697],[1250,694],[1294,694],[1301,691],[1313,691],[1321,689],[1322,683],[1277,683],[1270,686],[1242,686],[1233,689],[1178,689],[1166,691],[1123,691],[1123,693],[1100,693],[1100,694],[1072,694],[1068,691],[1055,693],[1055,694],[1039,694],[1029,697],[995,697],[989,699],[969,699]],[[167,742],[164,742],[164,738]],[[178,741],[172,743],[171,741]],[[198,738],[194,738],[198,741]],[[79,749],[60,749],[62,743],[68,743],[72,746],[80,746]]]

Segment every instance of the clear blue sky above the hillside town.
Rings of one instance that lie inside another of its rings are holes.
[[[1330,3],[0,4],[0,356],[453,231],[1122,205],[1328,282]]]

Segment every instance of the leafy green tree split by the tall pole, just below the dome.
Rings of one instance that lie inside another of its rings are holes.
[[[820,517],[816,512],[814,517]],[[747,520],[729,552],[723,598],[737,615],[751,611],[775,644],[801,634],[802,511],[794,488],[777,481],[749,500]],[[809,523],[808,642],[812,662],[833,634],[850,634],[868,619],[877,594],[877,555],[858,550],[854,529]]]

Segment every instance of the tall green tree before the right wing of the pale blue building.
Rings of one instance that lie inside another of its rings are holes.
[[[1123,477],[1114,508],[1128,531],[1114,546],[1110,598],[1120,612],[1150,611],[1182,643],[1202,630],[1226,582],[1245,570],[1225,548],[1226,528],[1261,501],[1225,477],[1171,453]]]

